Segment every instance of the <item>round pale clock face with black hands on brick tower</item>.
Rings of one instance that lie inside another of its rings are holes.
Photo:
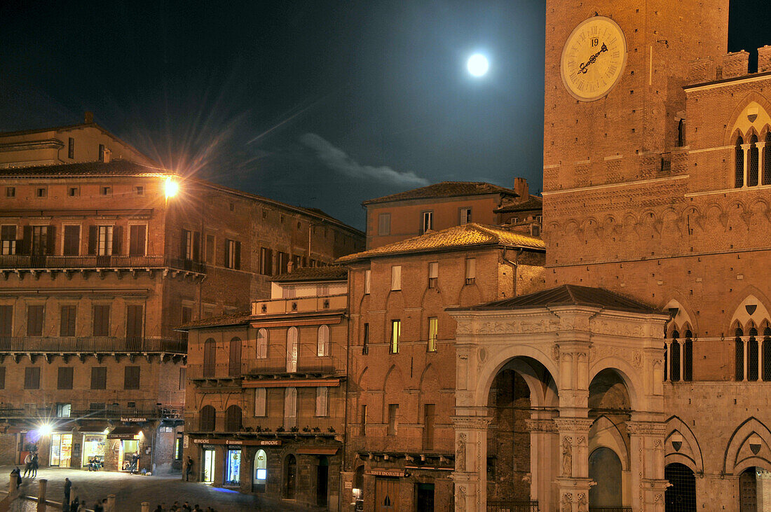
[[[626,52],[624,32],[611,18],[581,22],[562,49],[560,72],[567,92],[582,102],[608,94],[621,78]]]

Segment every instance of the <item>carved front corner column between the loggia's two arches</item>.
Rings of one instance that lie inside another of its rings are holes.
[[[589,488],[589,429],[594,420],[587,417],[558,417],[559,431],[557,488],[559,512],[587,512]]]

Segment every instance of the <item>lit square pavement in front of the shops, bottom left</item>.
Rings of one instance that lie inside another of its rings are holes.
[[[5,482],[12,467],[0,467],[0,487],[7,489]],[[217,512],[236,512],[241,510],[309,510],[295,507],[287,503],[271,503],[251,494],[241,494],[231,489],[212,487],[206,484],[183,482],[179,475],[163,475],[142,477],[127,473],[112,471],[95,471],[71,469],[38,470],[37,480],[48,480],[45,492],[46,500],[61,502],[64,493],[65,477],[72,480],[70,500],[76,496],[86,500],[86,506],[91,509],[94,502],[115,494],[116,510],[120,512],[140,512],[143,501],[150,502],[150,510],[160,503],[170,507],[174,501],[180,504],[187,501],[190,505],[199,504],[201,508],[213,507]],[[38,496],[39,484],[35,479],[25,479],[24,493],[28,496]],[[32,510],[22,507],[15,510]]]

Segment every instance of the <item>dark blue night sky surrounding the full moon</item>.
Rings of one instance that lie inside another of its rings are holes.
[[[362,229],[362,200],[442,180],[540,190],[543,0],[14,3],[2,131],[92,110],[170,169]],[[766,3],[732,2],[729,50],[771,44]]]

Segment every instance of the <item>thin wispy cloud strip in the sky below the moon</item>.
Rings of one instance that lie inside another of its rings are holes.
[[[414,172],[399,172],[385,166],[362,166],[342,149],[332,146],[328,140],[315,133],[306,133],[300,137],[300,142],[304,146],[313,149],[318,159],[329,169],[351,178],[377,179],[392,185],[408,187],[426,186],[429,184],[427,179],[417,176]]]

